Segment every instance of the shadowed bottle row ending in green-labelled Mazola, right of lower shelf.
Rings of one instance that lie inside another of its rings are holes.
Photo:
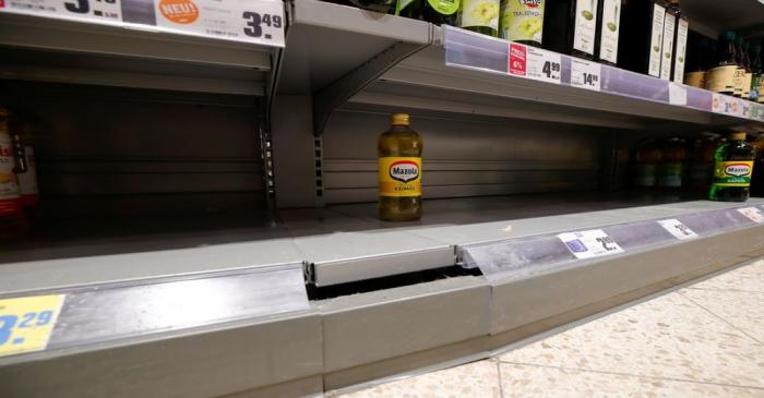
[[[744,202],[751,193],[764,196],[764,133],[753,145],[745,138],[745,133],[735,132],[689,143],[680,137],[645,143],[634,153],[632,182],[643,189],[707,194],[713,201]]]

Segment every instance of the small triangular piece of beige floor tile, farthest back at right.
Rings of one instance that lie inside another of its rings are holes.
[[[764,343],[764,292],[682,289],[680,293]]]

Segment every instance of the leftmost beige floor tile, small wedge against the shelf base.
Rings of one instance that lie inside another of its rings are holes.
[[[338,398],[499,398],[500,396],[499,370],[496,362],[480,361],[341,395]]]

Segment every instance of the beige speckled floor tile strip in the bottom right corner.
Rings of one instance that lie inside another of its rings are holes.
[[[764,397],[763,389],[501,364],[504,397]]]

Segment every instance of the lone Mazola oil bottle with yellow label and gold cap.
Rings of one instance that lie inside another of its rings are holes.
[[[393,113],[392,126],[378,142],[379,215],[385,221],[421,218],[422,143],[408,119],[406,113]]]

